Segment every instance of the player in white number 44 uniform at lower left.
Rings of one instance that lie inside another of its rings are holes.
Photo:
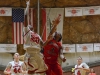
[[[8,63],[4,74],[7,75],[24,75],[26,74],[26,66],[23,62],[19,61],[19,54],[14,54],[14,61]]]

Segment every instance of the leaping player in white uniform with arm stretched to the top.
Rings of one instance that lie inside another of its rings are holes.
[[[29,15],[29,1],[26,7],[26,16]],[[27,22],[27,21],[25,21]],[[44,73],[47,70],[47,66],[44,63],[43,56],[40,53],[42,42],[41,37],[33,31],[33,26],[25,23],[24,25],[24,49],[25,62],[27,64],[28,74]]]

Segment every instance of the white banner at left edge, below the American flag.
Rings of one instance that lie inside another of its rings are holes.
[[[17,45],[16,44],[0,44],[0,53],[2,52],[15,53],[17,52]]]

